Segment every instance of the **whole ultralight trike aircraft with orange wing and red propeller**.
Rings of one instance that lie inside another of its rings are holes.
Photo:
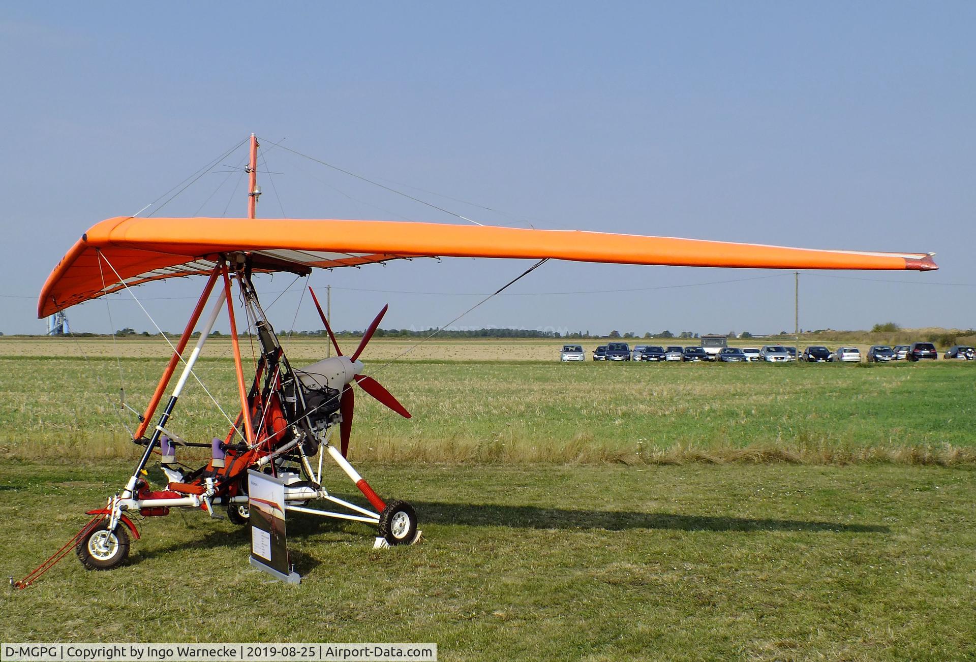
[[[344,355],[316,299],[315,306],[338,356],[300,368],[288,360],[268,323],[252,282],[253,274],[306,275],[313,268],[444,256],[772,269],[925,271],[937,268],[931,253],[820,251],[473,224],[258,219],[255,214],[260,195],[256,181],[257,150],[258,141],[251,136],[250,165],[246,169],[250,175],[247,218],[109,218],[82,235],[45,283],[38,302],[39,317],[152,281],[199,275],[206,282],[183,334],[173,346],[169,364],[140,416],[133,441],[143,447],[142,454],[128,482],[108,498],[102,509],[89,511],[93,519],[61,549],[61,556],[52,557],[46,566],[42,565],[19,582],[19,586],[29,584],[39,576],[38,571],[43,572],[72,547],[88,568],[107,569],[122,564],[129,553],[129,535],[139,538],[131,514],[162,516],[171,508],[199,508],[217,517],[218,511],[224,509],[230,520],[244,523],[248,514],[245,492],[249,469],[273,472],[284,479],[289,511],[375,525],[379,529],[378,546],[417,540],[419,529],[414,509],[405,501],[387,502],[381,498],[346,459],[354,385],[396,413],[410,416],[379,382],[365,374],[359,361],[386,308],[364,333],[355,351]],[[240,292],[248,329],[260,339],[260,359],[250,384],[241,362],[232,288]],[[211,298],[214,298],[212,303]],[[171,417],[224,307],[240,410],[222,437],[209,442],[186,440],[173,429]],[[187,354],[186,347],[201,318],[199,339]],[[154,418],[171,378],[181,365],[175,388],[162,412]],[[339,448],[333,444],[337,427]],[[183,446],[210,448],[211,458],[203,466],[185,470],[175,459],[175,449]],[[168,479],[162,489],[150,488],[144,471],[155,452],[161,455],[161,466]],[[342,467],[371,508],[340,499],[321,485],[325,455]],[[326,505],[312,507],[309,504],[313,501]]]

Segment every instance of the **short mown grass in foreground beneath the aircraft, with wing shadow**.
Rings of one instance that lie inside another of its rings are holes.
[[[127,463],[4,461],[0,559],[22,576]],[[422,544],[300,516],[303,583],[247,565],[246,530],[142,524],[128,565],[73,558],[2,592],[0,639],[435,642],[444,660],[971,657],[976,482],[963,468],[367,464]],[[345,484],[333,477],[340,493]],[[351,488],[351,486],[349,486]],[[346,492],[348,493],[348,492]]]

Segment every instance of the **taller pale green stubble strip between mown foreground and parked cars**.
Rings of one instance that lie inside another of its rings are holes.
[[[319,347],[321,347],[319,345]],[[73,460],[131,456],[120,416],[142,409],[164,360],[0,358],[0,453]],[[300,361],[296,361],[301,365]],[[373,362],[367,371],[383,364]],[[197,372],[230,415],[233,368]],[[937,362],[683,365],[423,361],[376,373],[414,417],[362,394],[352,456],[434,462],[972,462],[976,366]],[[171,426],[223,436],[227,423],[191,382]]]

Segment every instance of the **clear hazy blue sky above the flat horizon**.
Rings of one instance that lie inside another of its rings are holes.
[[[973,327],[974,19],[971,3],[5,3],[0,331],[43,329],[35,297],[85,229],[252,131],[484,223],[934,251],[934,273],[804,273],[800,326]],[[264,151],[280,174],[262,178],[259,215],[462,222]],[[235,183],[204,175],[165,214],[243,215]],[[384,327],[427,328],[525,266],[311,282],[334,287],[340,329],[387,301]],[[676,287],[697,283],[712,285]],[[137,293],[176,330],[198,286]],[[278,328],[319,326],[299,290]],[[793,330],[792,273],[549,262],[508,292],[459,324]],[[125,296],[110,311],[151,330]],[[110,331],[102,302],[68,315]]]

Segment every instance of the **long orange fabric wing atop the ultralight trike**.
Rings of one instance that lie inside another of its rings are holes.
[[[404,257],[516,257],[765,269],[937,269],[932,253],[816,251],[577,230],[385,220],[142,218],[103,220],[48,277],[38,317],[126,286],[210,273],[229,253],[256,271],[359,266]],[[102,258],[100,258],[100,255]]]

